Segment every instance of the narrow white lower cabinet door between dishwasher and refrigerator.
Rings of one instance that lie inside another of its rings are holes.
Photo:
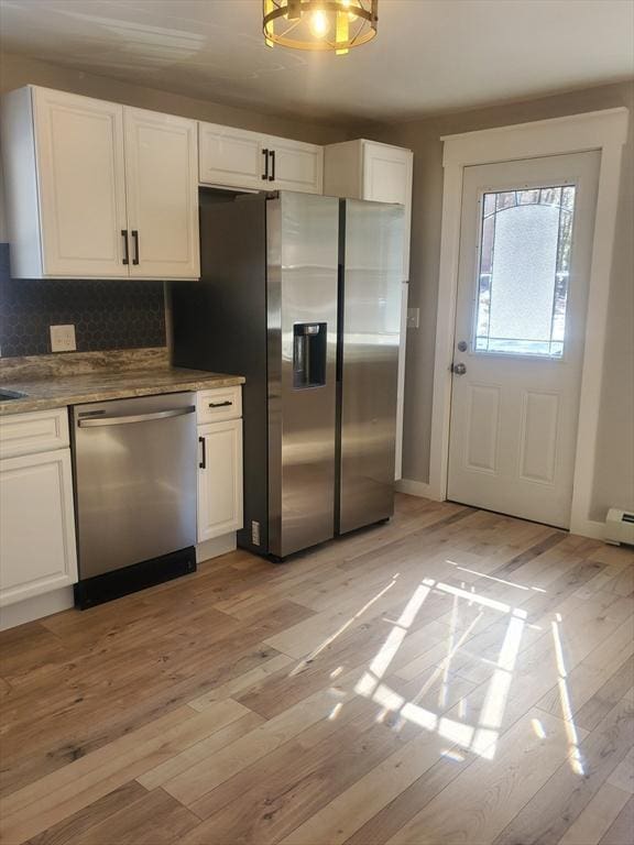
[[[242,528],[242,420],[199,426],[198,542]]]

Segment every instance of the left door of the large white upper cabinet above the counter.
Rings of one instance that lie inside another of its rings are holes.
[[[127,276],[123,108],[33,89],[45,276]]]

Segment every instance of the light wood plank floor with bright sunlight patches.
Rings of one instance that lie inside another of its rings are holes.
[[[400,496],[7,632],[2,841],[628,845],[633,590],[628,551]]]

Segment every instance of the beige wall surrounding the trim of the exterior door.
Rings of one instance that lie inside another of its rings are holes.
[[[624,152],[620,217],[614,245],[608,347],[598,462],[590,517],[611,505],[634,508],[634,185],[632,122],[634,85],[583,91],[452,113],[385,128],[374,138],[414,151],[409,304],[420,308],[420,328],[407,334],[403,476],[429,480],[431,396],[442,204],[441,135],[626,106],[630,140]],[[605,284],[609,279],[605,279]]]

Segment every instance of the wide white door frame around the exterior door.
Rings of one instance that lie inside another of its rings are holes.
[[[599,429],[621,157],[627,133],[627,119],[626,108],[605,109],[459,135],[446,135],[441,139],[445,179],[429,483],[428,485],[412,484],[412,487],[418,487],[417,492],[420,494],[438,501],[447,497],[451,405],[450,366],[455,342],[463,168],[478,164],[599,150],[601,166],[590,266],[570,530],[586,537],[602,538],[603,524],[592,522],[589,513]],[[409,492],[406,484],[402,489]]]

